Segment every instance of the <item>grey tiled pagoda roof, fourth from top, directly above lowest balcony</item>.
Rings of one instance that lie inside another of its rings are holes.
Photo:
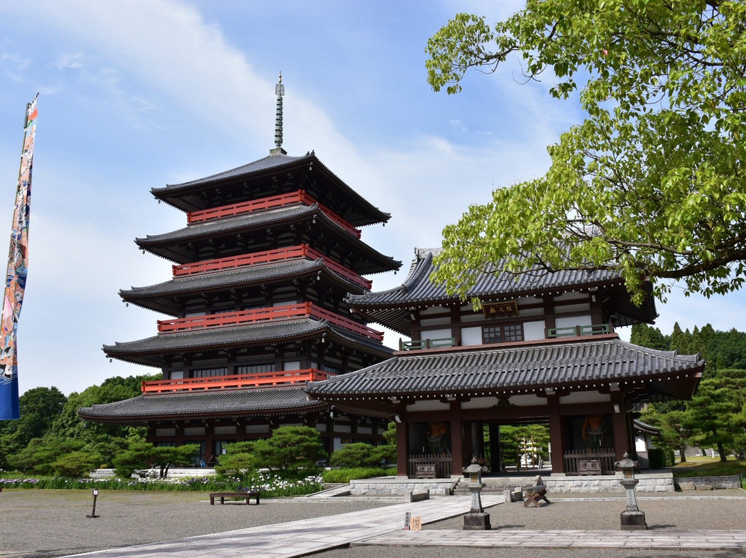
[[[189,354],[208,348],[274,344],[291,339],[313,339],[324,333],[332,341],[353,348],[361,348],[379,357],[388,357],[392,353],[390,348],[383,346],[380,342],[351,333],[342,327],[331,326],[325,320],[313,319],[238,327],[207,327],[178,333],[164,333],[137,341],[104,345],[103,350],[110,358],[160,368],[163,366],[164,355]]]

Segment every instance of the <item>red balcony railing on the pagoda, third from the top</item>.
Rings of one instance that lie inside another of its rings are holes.
[[[158,333],[176,333],[179,331],[204,329],[206,327],[235,327],[239,325],[281,322],[305,318],[324,319],[333,325],[344,327],[346,330],[358,333],[359,335],[369,337],[376,341],[383,341],[382,331],[374,330],[371,327],[354,322],[353,320],[343,316],[339,316],[339,314],[319,308],[311,302],[256,308],[254,310],[241,310],[239,312],[207,314],[205,316],[194,316],[192,318],[158,320],[157,323]]]

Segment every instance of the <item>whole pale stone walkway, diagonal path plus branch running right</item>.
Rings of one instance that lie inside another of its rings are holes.
[[[500,504],[502,496],[483,496],[485,507]],[[746,551],[746,530],[525,530],[490,531],[404,530],[404,515],[419,515],[423,524],[468,512],[471,498],[451,496],[412,504],[289,521],[228,533],[196,536],[98,551],[74,556],[290,558],[351,546],[468,547],[468,548],[625,548],[707,549]]]

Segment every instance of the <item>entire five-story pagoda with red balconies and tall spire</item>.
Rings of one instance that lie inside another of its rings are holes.
[[[119,294],[170,317],[157,322],[156,336],[104,345],[104,353],[161,369],[163,380],[143,383],[137,398],[81,408],[81,417],[147,424],[149,442],[198,443],[207,463],[226,444],[282,424],[316,427],[327,451],[381,439],[383,418],[308,401],[302,386],[391,355],[383,334],[345,302],[369,291],[363,275],[401,266],[360,240],[360,227],[389,214],[313,151],[286,154],[281,81],[269,157],[151,190],[186,212],[185,228],[135,241],[172,261],[173,278]]]

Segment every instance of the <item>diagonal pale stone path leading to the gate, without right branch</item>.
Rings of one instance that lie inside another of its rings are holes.
[[[482,498],[485,507],[500,504],[501,496]],[[406,512],[419,515],[423,524],[463,515],[471,509],[468,496],[444,496],[374,510],[328,515],[181,539],[96,551],[71,556],[101,558],[148,558],[169,556],[216,558],[291,558],[350,545],[403,530]]]

